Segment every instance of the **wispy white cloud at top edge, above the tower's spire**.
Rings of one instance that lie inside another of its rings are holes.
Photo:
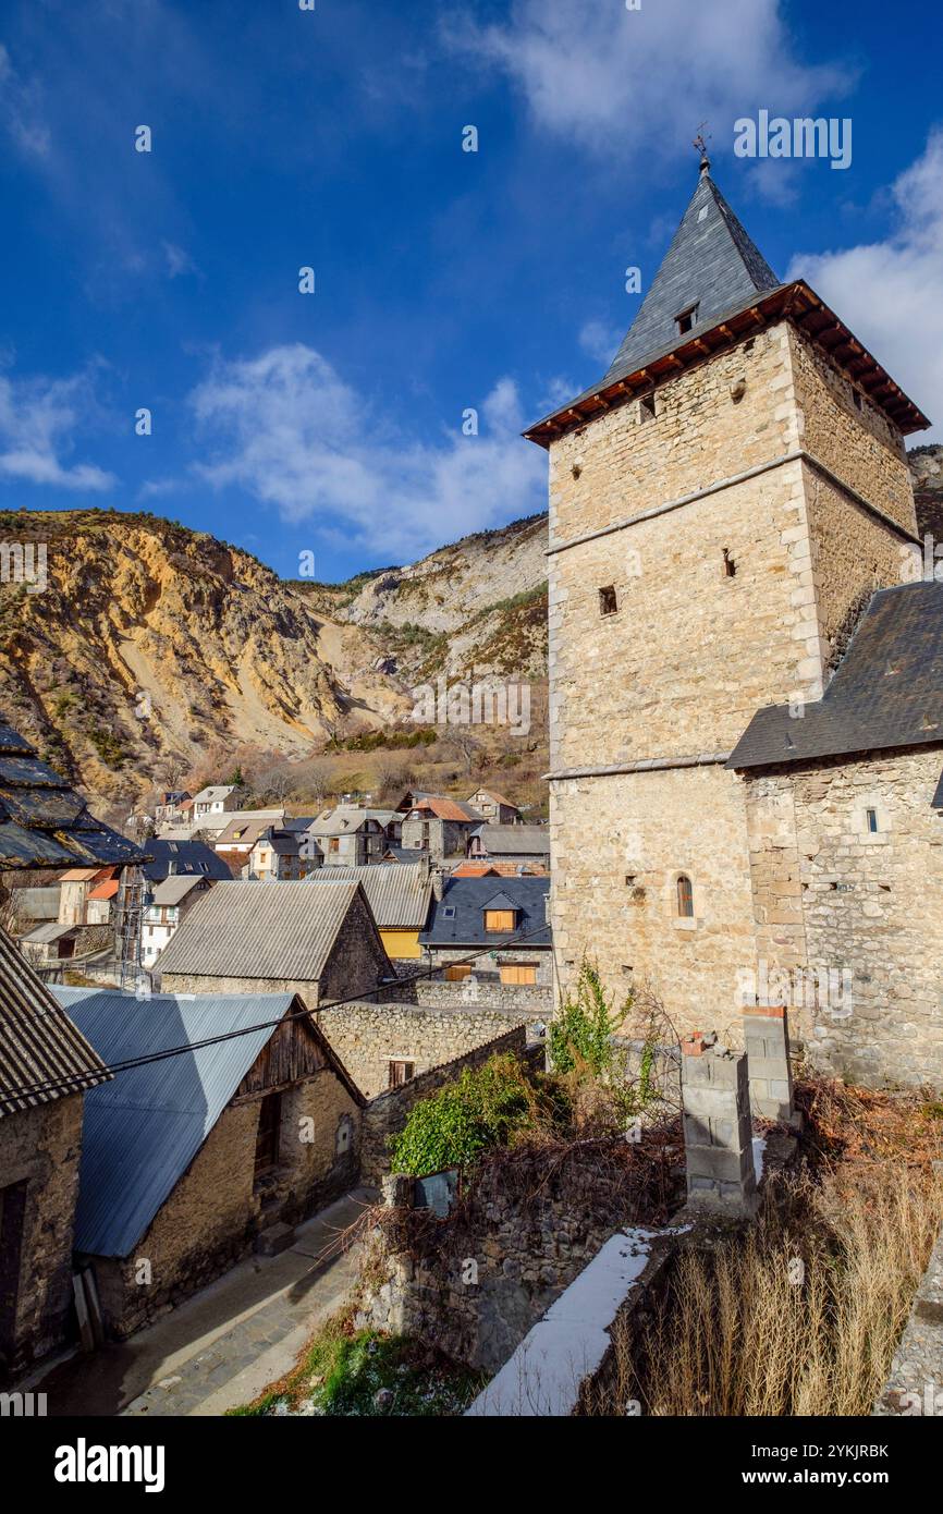
[[[503,68],[537,126],[622,165],[639,153],[690,153],[698,121],[733,148],[733,123],[760,106],[808,109],[846,88],[833,67],[804,67],[781,0],[513,0],[507,24],[450,18],[447,39]],[[651,165],[649,165],[651,167]]]

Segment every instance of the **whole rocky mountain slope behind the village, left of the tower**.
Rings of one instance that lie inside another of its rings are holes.
[[[407,721],[439,671],[542,678],[543,536],[318,586],[153,515],[0,512],[0,712],[101,801],[238,746],[309,755]]]

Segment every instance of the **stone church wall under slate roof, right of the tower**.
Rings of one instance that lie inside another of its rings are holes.
[[[943,1086],[941,766],[935,746],[745,780],[758,958],[833,1075]]]

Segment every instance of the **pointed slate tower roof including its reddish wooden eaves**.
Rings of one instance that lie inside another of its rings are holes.
[[[690,326],[681,330],[680,318]],[[796,279],[780,283],[702,168],[661,266],[607,372],[583,394],[525,430],[549,447],[556,436],[701,363],[775,321],[789,319],[907,436],[929,425],[843,321]]]

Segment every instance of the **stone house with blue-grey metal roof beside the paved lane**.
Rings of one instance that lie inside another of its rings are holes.
[[[106,1060],[192,1048],[88,1096],[74,1246],[107,1335],[291,1245],[357,1181],[363,1095],[297,995],[56,993]]]

